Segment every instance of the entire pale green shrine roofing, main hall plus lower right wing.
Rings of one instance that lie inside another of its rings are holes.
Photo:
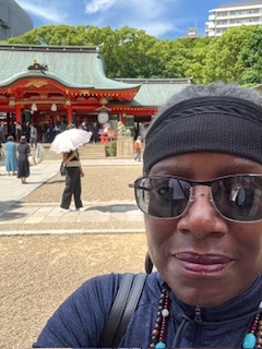
[[[28,70],[34,61],[47,70]],[[104,57],[96,47],[0,45],[0,87],[16,80],[49,77],[71,88],[130,89],[139,88],[129,106],[157,107],[189,84],[188,79],[108,79]],[[124,104],[124,103],[123,103]]]

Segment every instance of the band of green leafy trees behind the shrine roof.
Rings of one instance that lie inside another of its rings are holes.
[[[262,80],[262,27],[240,26],[217,38],[159,40],[128,26],[44,25],[8,44],[99,46],[108,77],[180,79],[258,84]]]

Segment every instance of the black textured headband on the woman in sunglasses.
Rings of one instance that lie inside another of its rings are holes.
[[[234,154],[262,164],[262,109],[228,96],[198,97],[171,106],[146,134],[144,173],[164,158],[199,152]]]

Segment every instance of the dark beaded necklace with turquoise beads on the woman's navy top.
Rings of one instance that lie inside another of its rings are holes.
[[[162,290],[150,348],[166,349],[164,341],[169,316],[170,299],[166,289]],[[259,305],[262,309],[262,302]],[[257,313],[251,322],[249,333],[242,340],[243,349],[262,349],[262,313]]]

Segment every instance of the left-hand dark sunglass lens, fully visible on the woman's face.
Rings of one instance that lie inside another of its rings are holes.
[[[172,218],[182,214],[190,196],[190,184],[170,177],[148,177],[136,182],[136,202],[153,217]]]

